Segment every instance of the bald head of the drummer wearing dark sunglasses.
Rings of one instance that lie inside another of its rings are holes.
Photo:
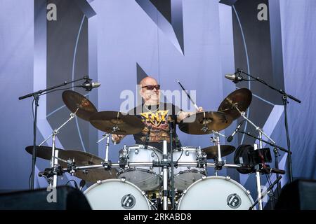
[[[157,104],[160,97],[160,85],[157,80],[147,76],[143,78],[140,83],[140,96],[143,98],[145,104]]]

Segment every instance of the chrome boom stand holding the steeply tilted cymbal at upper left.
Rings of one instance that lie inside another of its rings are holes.
[[[74,111],[74,113],[70,113],[70,118],[65,121],[65,123],[63,123],[62,125],[60,125],[60,127],[58,127],[58,129],[54,129],[53,133],[47,137],[44,141],[41,142],[41,144],[39,144],[39,146],[41,146],[42,144],[44,144],[48,139],[50,139],[52,137],[52,150],[51,150],[51,169],[54,170],[57,166],[58,166],[58,151],[55,151],[55,142],[56,142],[56,136],[59,133],[59,130],[64,127],[67,123],[70,122],[70,120],[74,119],[74,117],[76,117],[76,113],[79,110],[79,107],[77,108],[76,111]],[[51,179],[48,179],[48,183],[49,183],[49,187],[57,187],[57,176],[58,176],[58,172],[53,172],[53,177],[51,177]]]

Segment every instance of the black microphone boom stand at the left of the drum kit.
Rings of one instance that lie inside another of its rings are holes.
[[[32,92],[29,94],[26,94],[22,97],[19,97],[19,100],[21,99],[26,99],[29,97],[34,97],[34,102],[35,102],[35,114],[34,114],[34,123],[33,123],[33,152],[32,152],[32,175],[31,175],[31,190],[34,190],[34,178],[35,178],[35,161],[37,157],[37,109],[39,107],[39,96],[41,94],[48,94],[50,90],[55,90],[58,87],[62,87],[64,85],[70,84],[70,83],[75,83],[79,80],[88,80],[88,76],[84,76],[84,78],[79,78],[77,80],[72,80],[70,82],[63,82],[60,85],[55,85],[53,87],[48,87],[46,90],[39,90],[37,92]]]

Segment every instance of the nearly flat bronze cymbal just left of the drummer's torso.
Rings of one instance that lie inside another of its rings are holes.
[[[90,118],[90,123],[98,130],[112,133],[117,127],[117,131],[113,134],[137,134],[141,132],[145,125],[140,118],[124,114],[117,111],[101,111],[94,113]]]

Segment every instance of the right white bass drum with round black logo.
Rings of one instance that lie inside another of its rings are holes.
[[[254,204],[249,191],[224,176],[209,176],[183,192],[178,210],[248,210]]]

